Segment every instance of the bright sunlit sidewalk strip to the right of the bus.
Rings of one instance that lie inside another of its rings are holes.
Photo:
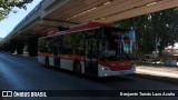
[[[138,66],[136,73],[147,76],[156,79],[174,81],[178,83],[178,67],[166,67],[166,66]]]

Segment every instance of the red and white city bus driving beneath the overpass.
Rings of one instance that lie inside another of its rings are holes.
[[[95,77],[136,72],[136,34],[108,23],[88,22],[39,38],[38,61]]]

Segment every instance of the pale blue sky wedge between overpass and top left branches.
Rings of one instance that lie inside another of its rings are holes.
[[[0,38],[4,38],[40,1],[33,0],[27,4],[27,10],[13,8],[18,12],[11,12],[6,19],[0,21]]]

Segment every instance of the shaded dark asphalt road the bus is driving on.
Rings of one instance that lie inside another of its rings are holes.
[[[178,90],[178,84],[137,76],[92,78],[44,68],[36,58],[0,53],[0,90]],[[1,100],[2,98],[0,98]],[[60,97],[2,100],[178,100],[178,97]]]

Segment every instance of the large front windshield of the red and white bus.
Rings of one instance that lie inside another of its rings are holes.
[[[134,60],[135,32],[111,31],[100,42],[100,58],[102,60]]]

